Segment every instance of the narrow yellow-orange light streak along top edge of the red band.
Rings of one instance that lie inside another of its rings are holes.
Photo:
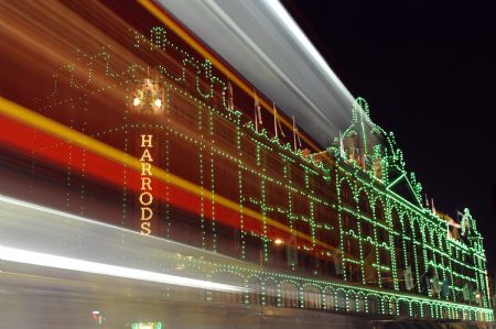
[[[20,105],[17,105],[3,97],[0,97],[0,114],[12,118],[32,128],[39,129],[45,133],[48,133],[51,135],[61,139],[62,141],[74,143],[75,146],[79,146],[83,150],[91,151],[94,154],[108,158],[114,163],[123,164],[138,173],[141,172],[141,163],[139,162],[138,158],[132,157],[129,154],[119,151],[115,147],[111,147],[96,139],[93,139],[78,131],[75,131],[74,129],[71,129],[64,124],[53,121],[44,116],[33,112],[24,107],[21,107]],[[0,133],[0,138],[2,139],[7,139],[9,138],[9,135],[10,134],[3,135]],[[17,138],[14,140],[22,141],[22,139]],[[215,202],[222,205],[228,210],[231,211],[234,210],[235,212],[241,211],[241,206],[237,202],[234,202],[223,196],[216,195],[207,189],[204,189],[162,168],[155,166],[152,166],[152,168],[154,176],[162,183],[171,184],[172,186],[175,186],[192,195],[203,196],[204,198],[207,198],[209,200],[215,199]],[[267,224],[271,226],[277,230],[280,230],[285,234],[292,233],[292,230],[289,227],[273,219],[263,217],[259,212],[254,211],[247,207],[242,207],[242,212],[246,217],[252,218],[259,222],[266,222]],[[310,235],[304,234],[302,232],[296,232],[296,237],[305,241],[313,242]],[[316,240],[315,243],[317,246],[323,248],[325,250],[335,250],[335,248],[325,242]]]

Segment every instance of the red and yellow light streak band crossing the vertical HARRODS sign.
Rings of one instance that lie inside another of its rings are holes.
[[[138,158],[109,146],[96,139],[87,136],[76,130],[73,130],[64,124],[61,124],[52,119],[33,112],[20,105],[17,105],[6,98],[0,97],[0,120],[2,120],[2,127],[4,129],[0,133],[1,140],[14,144],[18,147],[30,150],[33,152],[39,152],[39,155],[47,157],[51,161],[55,161],[58,164],[64,164],[66,161],[66,152],[63,150],[56,150],[46,147],[46,145],[56,145],[62,143],[72,143],[72,152],[76,154],[79,152],[80,157],[85,150],[86,152],[86,164],[85,171],[89,172],[98,178],[105,179],[116,185],[121,185],[121,175],[118,173],[122,171],[122,165],[126,165],[131,172],[130,175],[136,176],[136,179],[130,179],[133,182],[139,182],[139,176],[141,173],[141,163]],[[6,118],[7,117],[7,118]],[[9,119],[8,119],[9,118]],[[24,127],[23,127],[24,125]],[[31,141],[26,141],[23,138],[28,136],[31,127],[36,129],[40,133],[36,135],[36,140],[40,143],[37,147],[32,150],[30,145]],[[12,132],[17,133],[13,134]],[[23,131],[23,133],[19,133]],[[40,149],[44,149],[40,151]],[[77,162],[74,161],[76,156],[73,157],[73,166],[77,168]],[[94,161],[93,165],[90,164]],[[79,171],[80,168],[79,164]],[[269,227],[268,235],[272,238],[282,238],[287,241],[293,234],[302,240],[310,243],[315,243],[314,253],[317,255],[321,252],[332,251],[334,253],[342,253],[334,246],[320,241],[313,240],[310,235],[304,234],[299,231],[294,231],[288,226],[284,226],[273,219],[263,217],[261,213],[249,209],[247,207],[241,207],[239,204],[229,200],[220,195],[216,195],[207,189],[204,189],[188,180],[185,180],[174,174],[171,174],[160,167],[152,166],[154,177],[160,182],[158,189],[164,190],[165,185],[173,188],[171,191],[174,193],[174,198],[169,200],[171,204],[182,207],[183,209],[190,211],[200,212],[200,207],[195,206],[198,204],[200,197],[215,200],[216,204],[220,205],[219,209],[216,209],[216,218],[220,219],[224,223],[233,226],[230,220],[233,216],[239,216],[242,211],[246,219],[246,228],[251,229],[257,232],[262,232],[262,223]],[[132,176],[131,176],[132,177]],[[139,191],[140,184],[136,183],[129,186],[132,190]],[[165,200],[163,196],[162,200]],[[160,198],[159,197],[159,198]],[[205,213],[208,217],[208,212]],[[301,242],[296,241],[298,245]]]

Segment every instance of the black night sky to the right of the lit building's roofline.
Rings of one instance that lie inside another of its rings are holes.
[[[435,208],[468,207],[496,273],[496,18],[492,1],[283,3],[370,117],[393,131]]]

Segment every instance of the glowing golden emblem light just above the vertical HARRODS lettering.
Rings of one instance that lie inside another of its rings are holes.
[[[158,114],[164,110],[164,90],[158,79],[150,77],[139,83],[132,90],[131,107],[141,114]]]

